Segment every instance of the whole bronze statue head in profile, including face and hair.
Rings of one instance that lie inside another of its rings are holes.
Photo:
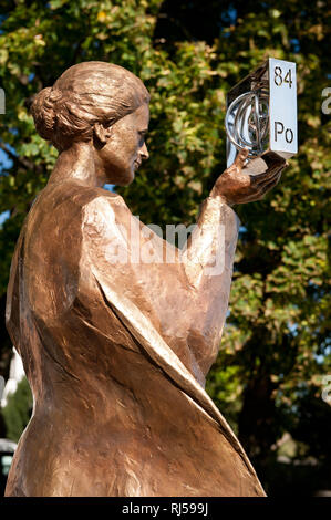
[[[61,153],[90,143],[96,168],[113,184],[127,185],[148,157],[149,94],[143,82],[106,62],[83,62],[68,69],[52,87],[33,100],[35,128]]]

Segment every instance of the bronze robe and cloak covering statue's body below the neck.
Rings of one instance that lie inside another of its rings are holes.
[[[265,495],[204,389],[238,220],[208,198],[200,223],[180,251],[102,188],[53,183],[34,200],[7,300],[33,413],[7,496]]]

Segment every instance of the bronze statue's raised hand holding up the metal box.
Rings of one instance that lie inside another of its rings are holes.
[[[245,204],[260,200],[280,180],[281,171],[287,162],[275,153],[266,154],[262,159],[268,169],[262,174],[246,173],[244,166],[248,149],[237,155],[235,163],[227,168],[216,180],[210,191],[211,197],[220,196],[227,204]]]

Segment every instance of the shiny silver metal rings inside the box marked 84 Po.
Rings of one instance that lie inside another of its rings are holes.
[[[269,135],[268,93],[259,89],[236,97],[227,110],[225,126],[237,149],[248,148],[249,157],[262,154]]]

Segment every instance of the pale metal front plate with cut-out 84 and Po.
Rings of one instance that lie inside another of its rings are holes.
[[[270,149],[283,157],[298,152],[296,63],[269,58]]]

